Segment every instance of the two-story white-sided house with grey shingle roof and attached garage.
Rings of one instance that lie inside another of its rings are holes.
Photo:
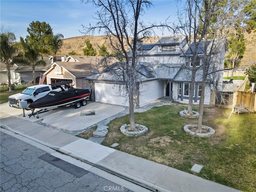
[[[155,44],[142,44],[137,42],[137,92],[134,95],[136,108],[145,106],[158,98],[167,96],[169,100],[188,103],[189,86],[191,81],[190,52],[187,39],[181,36],[161,38]],[[211,68],[211,83],[222,82],[222,73],[214,70],[224,66],[225,45],[216,48],[214,57],[216,66]],[[199,54],[200,55],[200,54]],[[122,63],[115,63],[111,68],[114,71],[105,70],[100,74],[94,74],[86,79],[89,80],[93,90],[92,98],[97,102],[128,106],[128,97],[122,82]],[[198,67],[202,66],[200,62]],[[111,69],[110,68],[110,69]],[[200,100],[200,82],[202,70],[196,73],[196,86],[194,91],[194,104]],[[221,85],[218,85],[221,87]],[[212,99],[212,98],[214,99]],[[215,102],[215,90],[211,84],[206,84],[206,98],[204,104]],[[213,103],[214,104],[214,103]]]

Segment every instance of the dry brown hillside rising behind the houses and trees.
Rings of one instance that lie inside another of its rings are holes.
[[[148,40],[144,40],[143,43],[155,43],[161,37],[151,37]],[[246,52],[244,53],[244,58],[242,64],[246,64],[249,61],[251,63],[256,63],[256,33],[245,34],[246,38]],[[110,42],[106,40],[106,36],[78,36],[73,38],[67,38],[63,40],[63,46],[58,52],[59,55],[68,55],[68,52],[76,52],[76,54],[84,55],[82,49],[86,47],[86,40],[90,40],[92,47],[98,51],[98,48],[105,44],[108,48],[108,52],[112,49],[109,46]]]

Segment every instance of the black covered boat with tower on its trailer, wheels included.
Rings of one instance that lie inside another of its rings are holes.
[[[39,118],[38,114],[52,111],[63,106],[74,105],[75,108],[80,108],[80,106],[85,106],[87,101],[90,99],[91,93],[88,89],[73,88],[69,81],[53,83],[50,85],[60,87],[62,89],[62,86],[64,85],[68,90],[65,91],[63,89],[64,91],[62,92],[51,91],[46,96],[32,102],[28,106],[32,110],[32,113],[28,115],[29,118],[35,115]],[[39,110],[35,112],[35,109]]]

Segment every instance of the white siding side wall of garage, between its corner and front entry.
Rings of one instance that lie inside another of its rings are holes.
[[[164,97],[165,82],[160,80],[147,81],[140,84],[140,107]]]

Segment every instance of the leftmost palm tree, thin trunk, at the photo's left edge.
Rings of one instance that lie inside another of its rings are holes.
[[[1,29],[2,31],[2,29]],[[6,71],[9,83],[9,91],[11,86],[10,68],[14,64],[15,57],[18,54],[18,48],[15,45],[16,37],[12,32],[1,32],[0,34],[0,61],[6,64]]]

